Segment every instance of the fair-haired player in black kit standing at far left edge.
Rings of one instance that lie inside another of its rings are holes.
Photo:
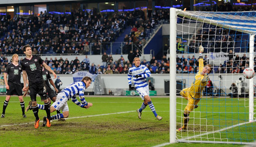
[[[4,84],[6,86],[6,98],[3,103],[2,107],[2,115],[1,118],[5,117],[5,109],[8,105],[10,96],[12,95],[17,95],[21,110],[22,110],[22,116],[23,118],[26,118],[24,109],[25,109],[25,104],[24,100],[22,98],[22,85],[20,83],[20,73],[22,72],[21,66],[18,64],[18,54],[13,54],[12,55],[12,63],[8,64],[5,68],[3,79],[4,79]],[[7,75],[8,75],[8,81],[7,81]]]

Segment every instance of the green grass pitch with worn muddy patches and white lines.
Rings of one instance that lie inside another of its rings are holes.
[[[0,112],[2,111],[4,98],[4,96],[0,97]],[[40,98],[38,97],[37,99],[39,100]],[[156,112],[163,117],[161,121],[155,119],[148,106],[142,112],[142,119],[137,118],[135,110],[142,103],[139,97],[86,97],[88,102],[93,103],[90,109],[83,109],[72,101],[68,101],[69,119],[63,122],[53,121],[50,128],[42,127],[42,122],[40,122],[39,128],[34,129],[33,122],[35,118],[33,112],[29,110],[26,112],[27,118],[22,118],[18,98],[13,96],[6,108],[5,118],[0,118],[0,147],[152,147],[168,143],[169,98],[152,97],[151,99]],[[24,99],[25,106],[29,100],[29,97]],[[180,127],[181,109],[183,110],[185,107],[185,105],[181,105],[182,100],[184,99],[177,98],[177,128]],[[41,101],[38,103],[42,104]],[[196,117],[199,113],[198,111],[205,111],[205,113],[201,113],[201,118],[207,118],[207,122],[202,121],[202,119],[200,122],[199,119],[194,118],[194,114]],[[221,98],[214,100],[211,98],[202,99],[199,102],[199,107],[190,115],[189,131],[177,134],[177,137],[181,139],[182,137],[198,135],[200,130],[202,132],[206,131],[206,129],[211,131],[208,125],[212,124],[214,124],[212,130],[219,130],[227,125],[238,124],[238,118],[248,118],[246,116],[248,114],[237,113],[239,114],[237,116],[233,113],[216,113],[212,115],[213,113],[210,113],[212,111],[238,111],[242,113],[245,108],[242,106],[242,102],[236,102],[232,99],[228,101]],[[55,114],[56,112],[52,113],[52,115]],[[39,110],[41,120],[45,115],[45,111]],[[240,120],[240,123],[243,122],[245,121]],[[192,123],[195,125],[192,125]],[[200,123],[202,127],[198,127]],[[224,139],[223,141],[226,138],[247,138],[250,142],[251,139],[254,139],[253,132],[256,132],[252,124],[226,131],[235,133],[209,134],[208,138],[220,138],[218,135],[221,135],[221,138]],[[251,127],[249,127],[250,125]],[[193,129],[197,131],[192,131]],[[239,133],[239,129],[246,130],[241,132],[247,132],[251,137]],[[202,136],[202,138],[202,140],[205,140],[206,136]],[[239,142],[239,140],[232,141]],[[198,146],[241,147],[242,145],[176,143],[166,147]]]

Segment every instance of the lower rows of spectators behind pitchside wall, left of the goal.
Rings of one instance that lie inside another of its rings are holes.
[[[138,50],[131,51],[128,54],[128,60],[125,60],[124,56],[121,55],[119,59],[114,59],[112,55],[108,55],[106,52],[102,55],[102,64],[95,65],[91,63],[87,55],[80,61],[78,57],[74,60],[69,60],[68,58],[63,59],[60,57],[45,58],[44,62],[51,67],[51,69],[56,74],[74,74],[77,71],[89,71],[91,74],[127,74],[128,69],[132,67],[133,58],[135,56],[140,56]],[[20,58],[20,61],[23,58]],[[7,64],[11,63],[2,54],[0,56],[0,72],[3,73]],[[151,73],[169,73],[169,60],[167,60],[164,55],[161,60],[156,60],[152,57],[150,61],[143,60],[141,64],[145,65]]]

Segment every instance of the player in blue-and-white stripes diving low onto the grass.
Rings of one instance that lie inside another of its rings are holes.
[[[72,83],[63,89],[57,95],[56,101],[51,105],[51,113],[56,110],[61,110],[62,113],[51,116],[50,120],[67,118],[69,116],[69,108],[67,103],[69,99],[82,108],[90,108],[93,104],[85,100],[84,92],[91,85],[91,83],[92,79],[90,77],[84,77],[82,81]],[[79,96],[81,102],[77,100],[76,95]],[[42,105],[38,104],[38,107],[42,107]]]

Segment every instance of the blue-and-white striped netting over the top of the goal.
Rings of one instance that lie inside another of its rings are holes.
[[[200,12],[178,10],[177,14],[189,19],[230,28],[239,32],[256,34],[256,11]]]

